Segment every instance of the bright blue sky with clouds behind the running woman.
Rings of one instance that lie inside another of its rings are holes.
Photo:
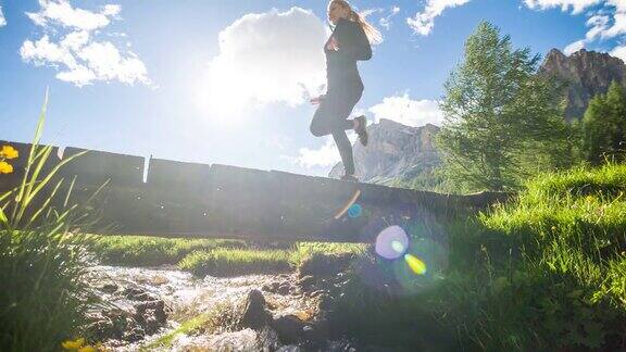
[[[353,0],[383,43],[355,113],[438,124],[443,83],[477,24],[516,48],[626,60],[626,0]],[[326,175],[309,124],[323,91],[326,1],[0,0],[0,139]],[[411,20],[408,20],[411,18]]]

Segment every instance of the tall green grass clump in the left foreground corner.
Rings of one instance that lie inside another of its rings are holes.
[[[80,153],[41,174],[52,152],[38,144],[46,105],[47,99],[33,148],[18,155],[27,159],[21,186],[0,193],[1,351],[59,351],[62,341],[80,335],[98,302],[83,280],[90,239],[82,232],[93,225],[87,215],[92,204],[74,204],[74,183],[52,178]]]

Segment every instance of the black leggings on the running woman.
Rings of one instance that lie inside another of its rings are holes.
[[[362,93],[363,84],[360,81],[329,88],[311,122],[313,136],[333,135],[343,162],[346,175],[354,175],[352,144],[346,135],[346,130],[352,129],[354,124],[352,120],[347,118],[361,99]]]

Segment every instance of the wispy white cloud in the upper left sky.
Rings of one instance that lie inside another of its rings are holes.
[[[67,0],[39,0],[41,9],[27,13],[46,32],[39,40],[25,40],[20,55],[36,66],[48,65],[58,71],[57,78],[78,87],[95,81],[118,80],[127,85],[151,85],[146,65],[128,51],[121,52],[111,41],[97,41],[95,34],[117,18],[122,8],[107,4],[100,12],[74,9]]]

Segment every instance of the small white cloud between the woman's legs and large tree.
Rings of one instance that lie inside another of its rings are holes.
[[[437,101],[412,100],[408,93],[384,98],[381,103],[370,108],[368,111],[374,114],[376,122],[387,118],[413,127],[426,124],[440,126],[443,121],[443,113],[439,110]]]

